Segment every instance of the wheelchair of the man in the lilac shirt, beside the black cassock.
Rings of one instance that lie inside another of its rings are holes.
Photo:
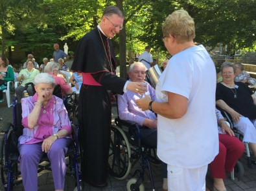
[[[128,181],[127,190],[145,190],[145,172],[148,172],[152,190],[155,190],[150,164],[161,165],[156,157],[156,148],[141,143],[140,130],[135,123],[116,118],[115,125],[111,126],[109,172],[111,176],[122,180],[137,163],[139,167],[131,174],[133,178]],[[138,179],[135,178],[136,174],[139,174]]]

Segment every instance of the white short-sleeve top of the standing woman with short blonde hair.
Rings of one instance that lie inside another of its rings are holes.
[[[216,70],[204,46],[174,55],[159,78],[156,101],[167,92],[187,97],[187,113],[180,119],[157,116],[157,155],[169,165],[199,168],[218,154],[215,114]]]

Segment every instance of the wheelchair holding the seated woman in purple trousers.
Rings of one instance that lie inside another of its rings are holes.
[[[21,172],[19,172],[19,151],[17,149],[17,139],[23,132],[21,125],[21,103],[13,101],[14,123],[6,123],[0,128],[0,172],[1,180],[6,191],[13,190],[14,186],[22,183]],[[74,120],[75,121],[75,120]],[[78,141],[78,126],[72,124],[73,141],[69,145],[66,154],[66,175],[75,177],[75,190],[82,190],[80,171],[80,148]],[[48,163],[45,163],[48,162]],[[38,165],[38,173],[43,170],[51,170],[51,164],[47,154],[44,154]]]

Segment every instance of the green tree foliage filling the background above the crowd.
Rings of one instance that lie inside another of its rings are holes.
[[[117,55],[119,44],[125,43],[128,52],[141,54],[146,45],[151,45],[153,57],[168,57],[161,41],[161,26],[167,15],[181,8],[194,18],[195,41],[210,47],[229,45],[227,53],[255,51],[255,0],[1,0],[2,51],[8,46],[21,46],[41,59],[51,57],[52,43],[62,41],[75,51],[78,40],[98,25],[109,5],[121,7],[125,15],[122,35],[126,41],[121,35],[113,38]],[[126,52],[122,48],[120,51]]]

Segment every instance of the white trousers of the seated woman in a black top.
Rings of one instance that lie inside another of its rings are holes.
[[[239,122],[234,126],[244,134],[243,142],[256,143],[255,120],[251,122],[247,117],[240,117]]]

